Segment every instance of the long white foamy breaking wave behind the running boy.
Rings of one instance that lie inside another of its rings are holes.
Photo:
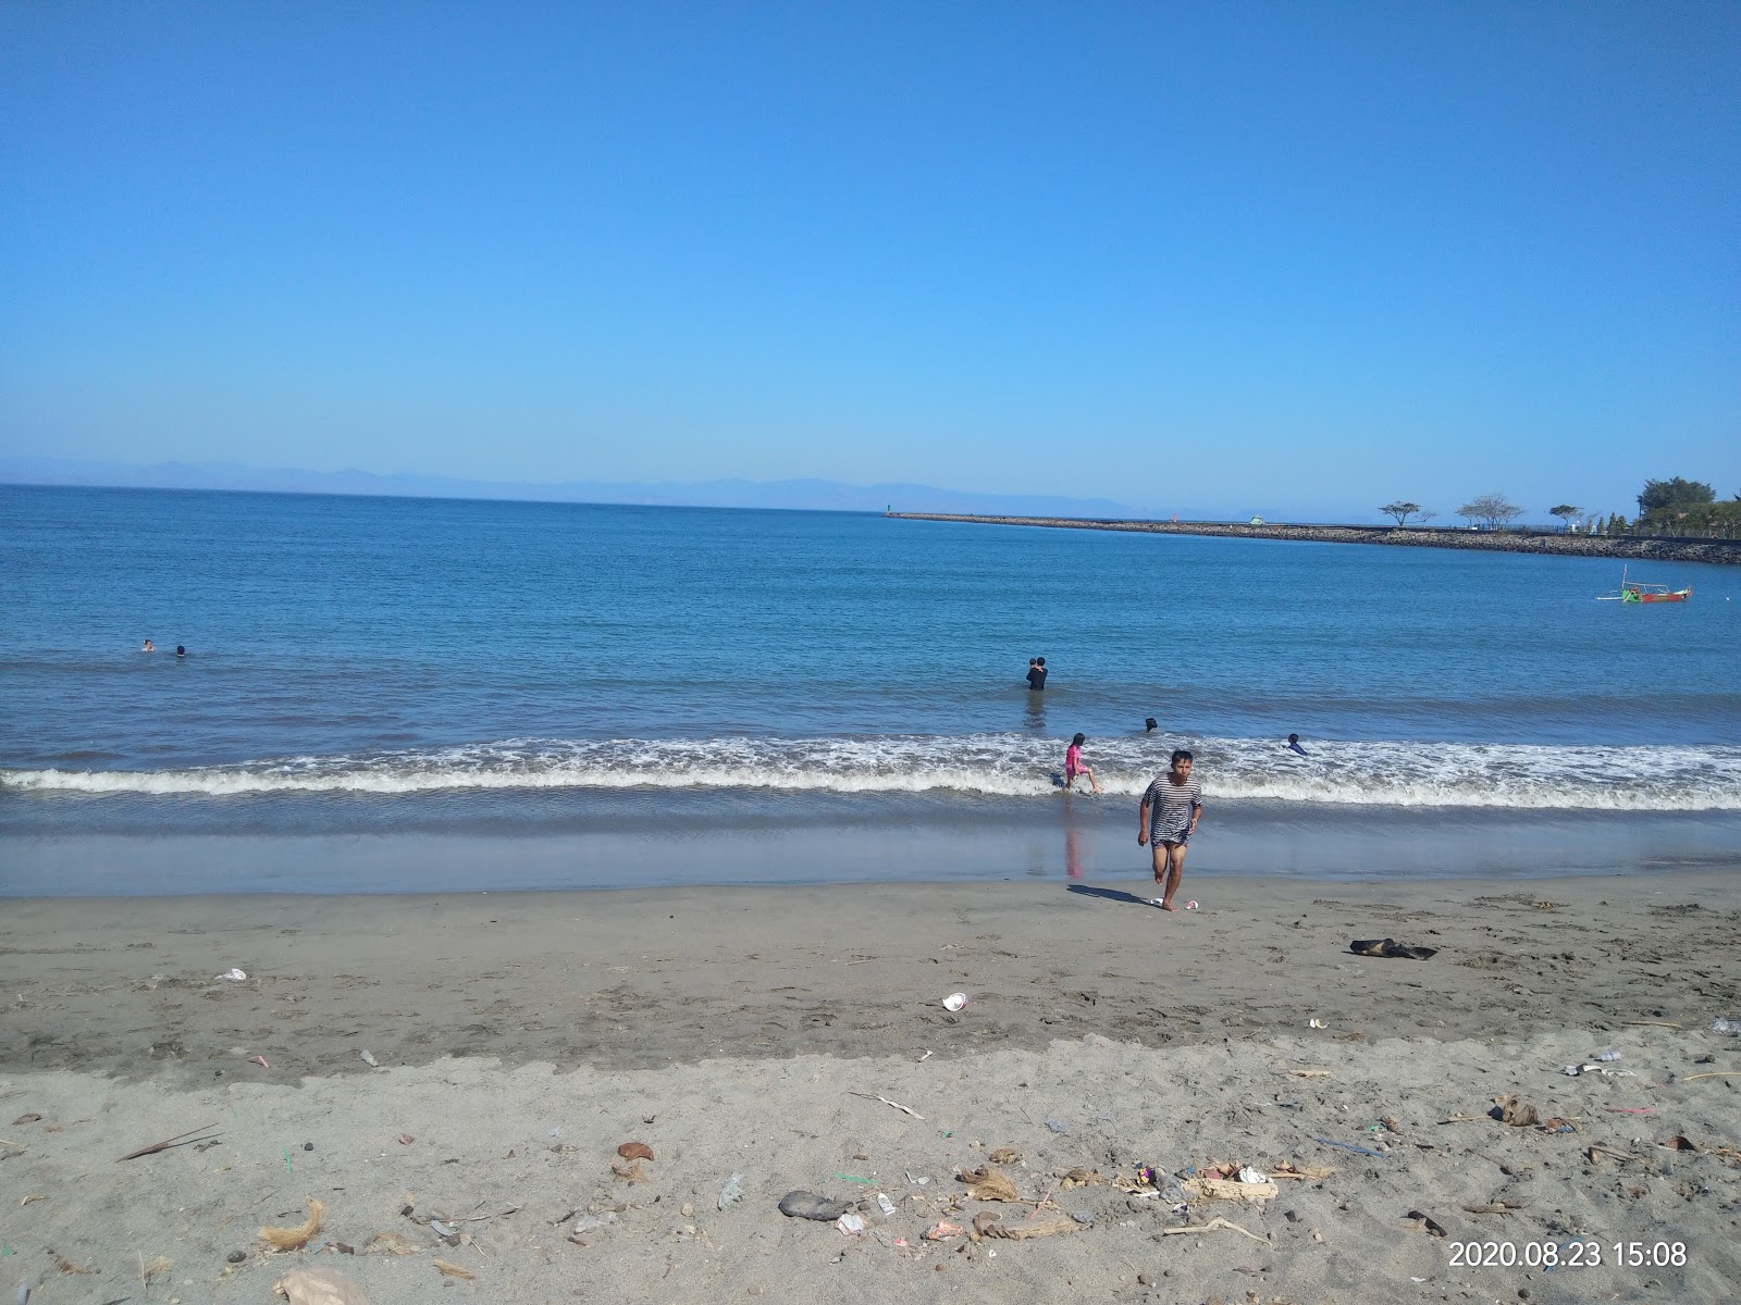
[[[1177,738],[1092,740],[1107,793],[1135,797]],[[1187,740],[1207,799],[1402,807],[1741,811],[1741,748]],[[367,757],[291,757],[164,771],[0,771],[28,793],[395,795],[487,788],[738,788],[832,793],[1057,792],[1064,741],[1031,734],[508,740]]]

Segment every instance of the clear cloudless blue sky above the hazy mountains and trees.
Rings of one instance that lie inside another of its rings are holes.
[[[1727,498],[1741,3],[7,3],[0,447]]]

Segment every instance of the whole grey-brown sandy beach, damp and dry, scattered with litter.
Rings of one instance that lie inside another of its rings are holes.
[[[376,1305],[1732,1300],[1736,884],[1187,879],[1205,910],[1172,917],[1031,882],[5,901],[0,1300],[270,1302],[298,1267]],[[1348,950],[1384,936],[1440,954]],[[1614,1074],[1562,1074],[1603,1049]],[[1489,1115],[1513,1094],[1572,1129]],[[218,1145],[118,1161],[202,1124]],[[613,1174],[629,1140],[644,1181]],[[1001,1148],[1027,1204],[958,1181]],[[1229,1161],[1334,1173],[1121,1190]],[[792,1188],[867,1230],[780,1215]],[[322,1230],[266,1255],[306,1197]],[[921,1239],[982,1213],[1069,1230]],[[1215,1216],[1254,1237],[1168,1232]],[[1600,1267],[1452,1263],[1581,1239]]]

